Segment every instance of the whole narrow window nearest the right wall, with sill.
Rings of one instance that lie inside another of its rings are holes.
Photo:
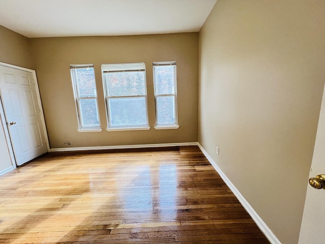
[[[156,130],[177,129],[176,62],[153,62]]]

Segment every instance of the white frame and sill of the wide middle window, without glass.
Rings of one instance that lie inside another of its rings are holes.
[[[141,66],[143,68],[136,69],[135,67]],[[132,95],[132,96],[109,96],[108,82],[106,80],[105,73],[110,72],[144,72],[144,88],[145,95]],[[106,118],[107,118],[107,131],[133,131],[133,130],[150,130],[149,127],[149,116],[148,116],[148,93],[147,93],[147,79],[146,79],[146,69],[144,62],[137,63],[118,63],[118,64],[102,64],[102,77],[103,77],[103,87],[104,87],[104,97],[105,97],[105,107],[106,107]],[[145,109],[146,109],[146,124],[145,125],[122,125],[116,126],[111,123],[110,116],[110,99],[118,98],[144,98],[145,99]]]

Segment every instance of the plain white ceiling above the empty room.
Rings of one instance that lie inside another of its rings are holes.
[[[0,0],[0,25],[28,38],[199,32],[217,0]]]

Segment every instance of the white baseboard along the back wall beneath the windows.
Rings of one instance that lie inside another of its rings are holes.
[[[107,150],[107,149],[128,149],[128,148],[147,148],[147,147],[164,147],[164,146],[196,146],[197,142],[182,143],[160,143],[160,144],[140,144],[140,145],[117,145],[117,146],[86,146],[86,147],[64,147],[51,148],[52,151],[85,151],[85,150]]]

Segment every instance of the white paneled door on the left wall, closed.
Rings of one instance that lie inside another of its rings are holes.
[[[37,92],[32,72],[0,66],[0,97],[17,165],[47,152]]]

